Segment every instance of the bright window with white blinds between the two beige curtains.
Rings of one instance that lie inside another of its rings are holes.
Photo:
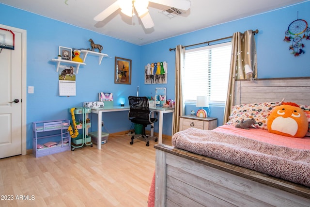
[[[197,96],[208,96],[211,103],[225,103],[231,54],[231,42],[186,50],[183,100],[196,102]]]

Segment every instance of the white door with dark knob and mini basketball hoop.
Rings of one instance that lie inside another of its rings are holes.
[[[24,138],[22,139],[23,119],[23,72],[26,44],[22,44],[23,31],[0,25],[0,28],[11,30],[15,34],[15,49],[3,48],[0,52],[0,158],[25,154]],[[3,31],[3,30],[2,30]],[[0,30],[3,41],[5,32]],[[14,102],[15,100],[15,102]],[[22,144],[23,143],[23,144]],[[22,153],[23,151],[23,153]]]

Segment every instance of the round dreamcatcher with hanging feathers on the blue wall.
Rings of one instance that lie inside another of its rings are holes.
[[[310,39],[310,28],[306,20],[298,19],[297,13],[297,19],[289,25],[283,41],[288,43],[292,42],[289,49],[293,50],[291,54],[296,57],[305,53],[305,45],[302,43],[303,39]]]

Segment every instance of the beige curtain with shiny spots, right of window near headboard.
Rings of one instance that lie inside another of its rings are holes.
[[[248,64],[253,73],[246,75],[244,66]],[[254,33],[252,30],[235,32],[232,39],[232,59],[228,83],[228,93],[224,111],[224,123],[228,122],[233,107],[234,81],[236,79],[257,78],[257,57]]]

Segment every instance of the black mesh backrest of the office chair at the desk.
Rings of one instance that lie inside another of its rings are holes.
[[[143,96],[129,96],[129,118],[149,119],[150,108],[149,99]]]

